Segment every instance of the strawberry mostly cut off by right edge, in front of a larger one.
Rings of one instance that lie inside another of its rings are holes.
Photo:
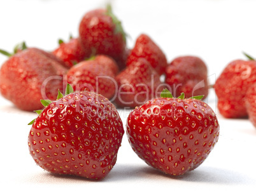
[[[245,95],[246,112],[253,126],[256,128],[256,84],[253,84],[248,88]]]

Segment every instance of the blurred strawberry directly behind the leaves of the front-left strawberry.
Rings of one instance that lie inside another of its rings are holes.
[[[97,55],[92,60],[82,61],[73,66],[67,73],[68,83],[73,84],[76,91],[95,91],[106,98],[115,94],[115,76],[117,63],[106,55]]]

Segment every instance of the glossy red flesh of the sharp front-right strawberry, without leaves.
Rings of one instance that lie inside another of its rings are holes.
[[[134,152],[168,175],[183,175],[201,165],[220,131],[206,103],[176,98],[157,98],[141,105],[129,114],[126,126]]]

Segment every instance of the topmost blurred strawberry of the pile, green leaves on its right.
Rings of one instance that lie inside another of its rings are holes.
[[[111,56],[120,69],[124,68],[125,33],[110,6],[106,10],[98,9],[86,13],[80,22],[79,34],[87,53]]]

